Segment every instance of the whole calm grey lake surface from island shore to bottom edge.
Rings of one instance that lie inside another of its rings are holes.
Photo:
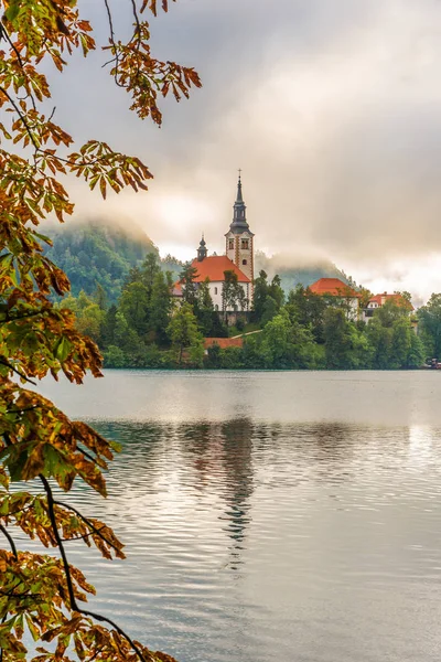
[[[122,444],[127,543],[74,544],[92,600],[180,662],[441,656],[441,373],[107,371],[45,382]]]

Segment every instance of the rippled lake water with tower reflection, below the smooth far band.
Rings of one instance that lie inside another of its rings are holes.
[[[136,637],[180,662],[438,660],[440,429],[95,426],[122,445],[110,496],[74,498],[110,520],[128,560],[83,547],[73,560]]]

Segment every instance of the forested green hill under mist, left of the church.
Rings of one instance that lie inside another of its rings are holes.
[[[114,302],[129,270],[148,253],[158,254],[147,234],[131,224],[77,221],[43,232],[54,243],[45,253],[67,274],[74,296],[82,289],[92,295],[100,285]]]

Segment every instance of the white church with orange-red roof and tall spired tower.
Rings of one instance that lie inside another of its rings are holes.
[[[233,222],[225,235],[225,255],[211,255],[204,236],[197,248],[197,257],[192,261],[197,273],[195,282],[209,280],[209,293],[216,310],[224,312],[234,312],[234,309],[225,306],[223,299],[223,287],[225,282],[225,271],[233,271],[237,276],[237,282],[244,289],[246,298],[246,308],[250,310],[252,303],[252,280],[254,273],[254,234],[249,229],[247,222],[247,207],[244,202],[241,191],[241,179],[237,183],[236,202],[234,203]],[[173,295],[176,298],[182,297],[182,286],[176,282],[173,288]]]

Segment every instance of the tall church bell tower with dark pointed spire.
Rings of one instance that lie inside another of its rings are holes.
[[[241,178],[239,170],[239,181],[237,183],[236,202],[234,203],[233,222],[229,225],[229,231],[225,235],[226,238],[226,255],[245,274],[254,280],[255,277],[255,252],[254,252],[254,234],[249,229],[247,223],[247,207],[245,206],[241,193]],[[252,286],[251,286],[252,291]]]

